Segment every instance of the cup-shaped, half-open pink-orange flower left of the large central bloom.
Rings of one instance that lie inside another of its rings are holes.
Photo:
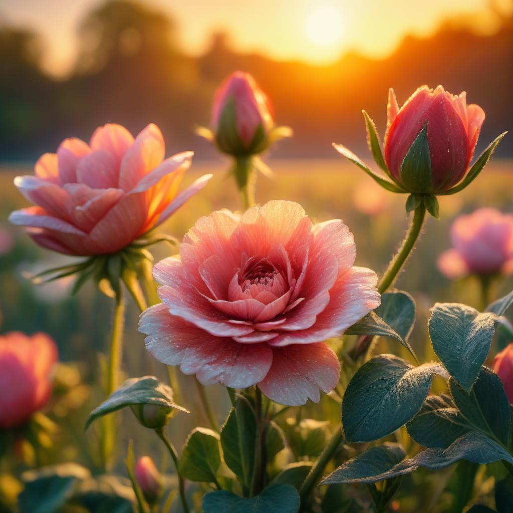
[[[205,175],[180,194],[192,152],[164,160],[164,140],[148,125],[135,140],[126,128],[97,128],[88,144],[66,139],[45,153],[35,176],[14,184],[36,206],[11,213],[41,246],[61,253],[114,253],[160,225],[209,179]]]

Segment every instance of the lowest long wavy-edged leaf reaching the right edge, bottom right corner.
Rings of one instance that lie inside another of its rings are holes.
[[[456,463],[459,460],[467,460],[472,463],[489,464],[504,460],[513,462],[509,452],[494,440],[483,433],[469,431],[453,442],[447,449],[426,449],[415,457],[403,460],[390,470],[374,476],[374,482],[384,481],[397,476],[409,474],[419,467],[430,470],[439,470]]]

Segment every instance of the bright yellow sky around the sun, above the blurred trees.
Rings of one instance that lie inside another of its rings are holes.
[[[385,57],[405,34],[427,36],[447,17],[470,19],[479,31],[496,29],[492,0],[140,0],[177,22],[184,51],[199,54],[215,31],[236,50],[278,60],[330,64],[347,51]],[[495,0],[510,8],[510,0]],[[75,32],[103,0],[0,0],[0,21],[35,29],[45,43],[44,66],[65,74],[76,55]]]

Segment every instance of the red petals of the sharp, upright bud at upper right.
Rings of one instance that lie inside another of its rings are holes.
[[[460,182],[468,169],[484,117],[481,107],[467,105],[465,92],[453,95],[442,86],[435,90],[422,86],[399,109],[390,89],[385,161],[391,175],[410,192],[448,190]],[[402,176],[401,166],[426,121],[431,185],[427,190],[412,190],[415,176]]]

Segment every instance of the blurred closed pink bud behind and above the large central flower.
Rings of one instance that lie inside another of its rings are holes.
[[[240,156],[264,151],[273,125],[269,100],[249,73],[235,71],[216,91],[212,128],[223,153]]]

